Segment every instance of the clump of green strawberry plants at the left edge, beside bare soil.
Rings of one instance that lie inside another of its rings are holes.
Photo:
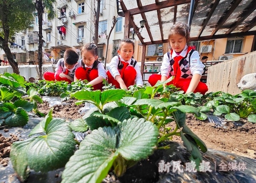
[[[4,73],[0,75],[0,125],[16,127],[23,126],[29,120],[27,112],[36,109],[36,102],[42,99],[30,88],[26,94],[24,78],[17,74]]]

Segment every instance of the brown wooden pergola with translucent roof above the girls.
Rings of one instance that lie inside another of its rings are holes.
[[[143,45],[142,66],[146,45],[168,42],[176,22],[188,23],[191,41],[256,35],[255,0],[117,0],[117,11],[125,17],[124,38],[133,28]]]

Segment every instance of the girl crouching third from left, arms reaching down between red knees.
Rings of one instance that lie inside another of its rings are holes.
[[[114,56],[108,66],[108,82],[116,88],[128,89],[134,85],[135,80],[138,86],[143,85],[140,67],[137,61],[132,58],[134,53],[134,42],[130,39],[120,41],[118,56]]]

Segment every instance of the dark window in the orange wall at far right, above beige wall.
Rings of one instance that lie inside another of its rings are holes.
[[[241,53],[243,38],[229,38],[227,39],[227,46],[225,53]]]

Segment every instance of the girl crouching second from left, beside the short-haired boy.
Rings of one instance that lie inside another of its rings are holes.
[[[75,78],[89,81],[87,85],[93,85],[94,90],[102,90],[103,79],[107,78],[106,70],[98,61],[98,49],[93,43],[85,44],[81,49],[82,60],[75,72]]]

